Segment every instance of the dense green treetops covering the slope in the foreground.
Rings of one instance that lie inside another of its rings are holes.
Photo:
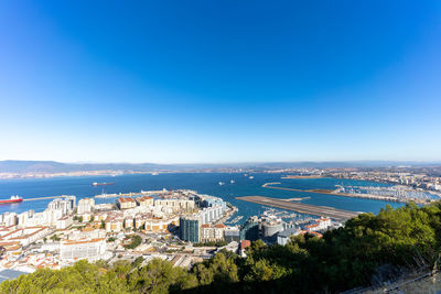
[[[153,260],[85,261],[39,270],[0,285],[1,293],[340,292],[379,284],[433,265],[441,248],[441,203],[363,214],[323,238],[300,236],[287,246],[256,241],[243,259],[223,251],[190,271]]]

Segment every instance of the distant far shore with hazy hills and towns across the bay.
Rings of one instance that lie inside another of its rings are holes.
[[[262,162],[224,164],[61,163],[55,161],[0,161],[2,178],[44,178],[158,173],[292,173],[290,178],[330,176],[338,172],[394,172],[441,175],[441,162]]]

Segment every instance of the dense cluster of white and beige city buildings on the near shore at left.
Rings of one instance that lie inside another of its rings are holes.
[[[232,211],[220,198],[193,190],[142,192],[118,197],[112,204],[82,198],[76,205],[75,196],[63,196],[41,213],[0,215],[0,268],[32,272],[43,266],[60,269],[80,259],[115,262],[140,255],[190,266],[212,253],[182,243],[180,220],[197,216],[197,240],[192,241],[224,240],[226,226],[217,222]],[[201,226],[204,230],[200,232]],[[130,247],[136,236],[141,241]]]

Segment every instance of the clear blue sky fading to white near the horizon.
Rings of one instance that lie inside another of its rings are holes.
[[[441,1],[0,2],[0,160],[441,160]]]

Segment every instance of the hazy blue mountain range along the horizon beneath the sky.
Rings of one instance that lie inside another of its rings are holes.
[[[183,172],[222,168],[326,168],[326,167],[386,167],[386,166],[433,166],[441,163],[428,162],[269,162],[269,163],[230,163],[230,164],[154,164],[154,163],[62,163],[55,161],[0,161],[0,173],[69,173],[88,171],[133,171],[133,172]]]

